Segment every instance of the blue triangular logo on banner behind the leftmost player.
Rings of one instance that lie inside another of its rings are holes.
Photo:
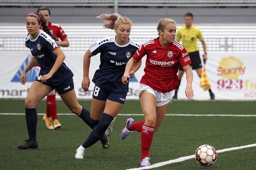
[[[12,79],[12,82],[20,82],[20,76],[22,71],[25,69],[25,67],[28,65],[28,62],[30,61],[30,59],[32,58],[31,55],[28,55],[26,61],[21,65],[20,70],[18,70],[18,72],[15,74],[14,78]],[[27,82],[33,82],[35,81],[37,75],[36,75],[36,71],[35,68],[33,67],[31,70],[29,70],[27,72]]]

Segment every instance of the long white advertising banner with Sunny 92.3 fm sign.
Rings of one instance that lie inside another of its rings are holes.
[[[78,99],[92,99],[93,82],[89,92],[81,87],[83,79],[83,57],[85,51],[64,51],[64,63],[74,73],[75,90]],[[27,83],[20,83],[22,70],[31,58],[30,51],[0,51],[0,98],[26,98],[30,85],[36,78],[34,68],[27,73]],[[216,100],[256,100],[256,54],[254,53],[209,53],[205,64],[206,74]],[[126,99],[138,99],[140,78],[144,74],[146,56],[135,77],[130,79]],[[202,62],[203,63],[203,62]],[[99,68],[100,55],[91,57],[89,77],[92,80],[95,70]],[[208,90],[200,86],[200,78],[193,70],[193,90],[195,100],[210,100]],[[186,99],[186,75],[181,79],[178,99]],[[174,95],[174,92],[173,92]],[[57,98],[60,98],[58,95]]]

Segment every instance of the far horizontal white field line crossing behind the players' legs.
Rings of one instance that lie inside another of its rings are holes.
[[[0,115],[25,115],[25,113],[0,113]],[[37,115],[45,115],[38,113]],[[58,113],[58,115],[75,115],[73,113]],[[118,114],[118,116],[144,116],[143,114]],[[225,114],[166,114],[165,116],[233,116],[233,117],[256,117],[256,115],[225,115]]]

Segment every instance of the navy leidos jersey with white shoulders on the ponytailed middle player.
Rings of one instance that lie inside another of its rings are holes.
[[[127,62],[140,47],[140,44],[129,38],[126,45],[118,45],[116,35],[103,38],[90,45],[93,55],[100,53],[100,67],[95,71],[92,82],[115,92],[128,92],[128,83],[122,83],[122,77]]]

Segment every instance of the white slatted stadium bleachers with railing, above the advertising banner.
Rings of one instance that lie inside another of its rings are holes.
[[[179,29],[183,25],[177,25]],[[255,52],[256,24],[197,24],[207,43],[208,52]],[[82,50],[101,38],[114,35],[101,24],[61,24],[68,35],[70,46],[63,50]],[[0,50],[27,50],[24,40],[25,24],[0,24]],[[156,38],[156,24],[133,24],[130,37],[140,43]],[[201,43],[199,48],[202,49]]]

